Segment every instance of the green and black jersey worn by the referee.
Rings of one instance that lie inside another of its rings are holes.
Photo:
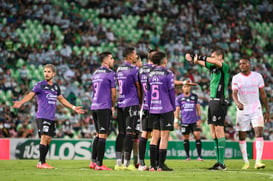
[[[228,81],[230,77],[229,65],[222,63],[222,68],[216,67],[214,64],[206,62],[206,68],[210,70],[210,97],[225,98],[228,96]]]

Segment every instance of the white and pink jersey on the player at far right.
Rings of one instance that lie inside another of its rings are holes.
[[[232,78],[232,90],[238,90],[238,100],[244,105],[243,112],[254,113],[261,109],[259,88],[264,87],[264,79],[258,72],[249,75],[238,73]]]

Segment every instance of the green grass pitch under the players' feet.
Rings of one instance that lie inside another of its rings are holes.
[[[214,164],[214,160],[184,161],[167,160],[172,172],[148,171],[95,171],[89,169],[88,160],[48,160],[48,164],[55,167],[52,170],[37,169],[37,160],[0,160],[0,180],[18,181],[62,181],[62,180],[122,180],[122,181],[273,181],[273,160],[264,160],[265,169],[254,169],[254,161],[250,161],[248,170],[241,170],[242,160],[226,160],[227,171],[209,171],[207,168]],[[149,163],[147,160],[146,163]],[[114,167],[115,160],[105,160],[104,164]]]

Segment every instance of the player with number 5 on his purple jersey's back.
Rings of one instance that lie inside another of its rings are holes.
[[[168,138],[173,130],[175,111],[174,74],[167,70],[166,54],[156,52],[152,56],[152,62],[156,67],[149,73],[147,84],[147,102],[150,112],[150,121],[153,124],[153,135],[150,143],[150,171],[172,171],[165,164]],[[157,144],[159,145],[159,164],[156,166]]]

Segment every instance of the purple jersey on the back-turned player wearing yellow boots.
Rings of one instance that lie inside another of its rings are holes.
[[[136,87],[138,68],[128,62],[124,62],[118,67],[116,74],[119,86],[118,107],[139,105]]]

